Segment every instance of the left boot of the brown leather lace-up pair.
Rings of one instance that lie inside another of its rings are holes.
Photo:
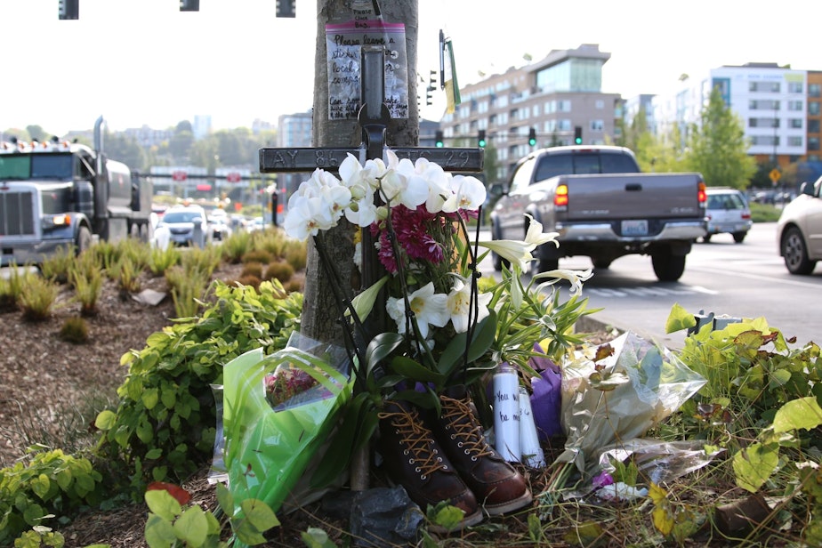
[[[379,418],[383,466],[423,512],[429,504],[449,501],[465,512],[456,529],[483,520],[477,498],[448,462],[415,406],[407,401],[386,401]]]

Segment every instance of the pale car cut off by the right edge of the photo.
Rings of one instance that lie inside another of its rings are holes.
[[[802,183],[802,192],[782,210],[777,222],[779,254],[791,274],[807,275],[822,260],[822,177]]]

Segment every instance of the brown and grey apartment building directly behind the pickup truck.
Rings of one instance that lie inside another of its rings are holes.
[[[584,144],[613,141],[622,100],[601,93],[602,65],[609,58],[599,44],[582,44],[462,87],[462,103],[440,121],[446,146],[477,146],[484,132],[487,148],[496,153],[496,173],[488,173],[494,182],[505,180],[533,149],[574,144],[577,135]]]

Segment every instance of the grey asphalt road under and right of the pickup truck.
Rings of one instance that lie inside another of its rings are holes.
[[[483,263],[483,270],[490,268]],[[560,268],[591,268],[587,257],[560,259]],[[756,223],[745,242],[729,234],[697,243],[678,282],[659,282],[650,258],[629,255],[595,270],[584,285],[592,318],[633,331],[668,348],[681,348],[685,332],[665,334],[674,303],[694,314],[763,317],[797,343],[822,344],[822,262],[810,276],[793,276],[778,254],[776,223]]]

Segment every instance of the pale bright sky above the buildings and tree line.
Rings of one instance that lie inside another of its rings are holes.
[[[312,107],[317,0],[79,0],[79,20],[58,20],[58,0],[0,0],[0,131],[48,133],[149,125],[195,116],[214,129],[272,124]],[[822,70],[818,0],[419,0],[417,70],[439,69],[439,30],[454,45],[460,85],[552,50],[599,44],[611,57],[602,92],[667,94],[682,74],[746,62]],[[424,95],[427,82],[420,84]],[[445,96],[421,116],[439,120]],[[423,99],[424,102],[424,99]]]

